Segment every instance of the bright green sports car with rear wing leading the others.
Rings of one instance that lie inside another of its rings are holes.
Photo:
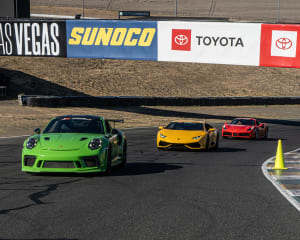
[[[27,138],[22,151],[23,172],[111,172],[127,159],[126,137],[106,120],[91,115],[53,118],[41,133]]]

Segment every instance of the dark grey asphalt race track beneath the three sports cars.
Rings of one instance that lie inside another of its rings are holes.
[[[111,176],[22,173],[24,138],[0,139],[0,240],[299,239],[299,212],[261,171],[278,138],[299,148],[283,123],[218,152],[159,151],[156,129],[126,130],[128,165]]]

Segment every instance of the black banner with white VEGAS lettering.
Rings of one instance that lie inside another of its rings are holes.
[[[65,21],[0,21],[0,56],[65,57]]]

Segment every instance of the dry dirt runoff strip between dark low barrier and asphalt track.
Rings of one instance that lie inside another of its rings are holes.
[[[115,108],[40,108],[18,105],[17,100],[0,101],[0,137],[32,134],[43,128],[53,117],[65,114],[91,114],[106,118],[124,119],[119,128],[158,127],[178,119],[202,119],[217,123],[235,117],[255,117],[268,123],[299,124],[299,105],[285,106],[218,106],[218,107],[166,107],[140,106]]]

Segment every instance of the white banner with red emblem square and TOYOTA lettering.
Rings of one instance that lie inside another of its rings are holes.
[[[259,66],[260,23],[158,22],[158,61]]]

